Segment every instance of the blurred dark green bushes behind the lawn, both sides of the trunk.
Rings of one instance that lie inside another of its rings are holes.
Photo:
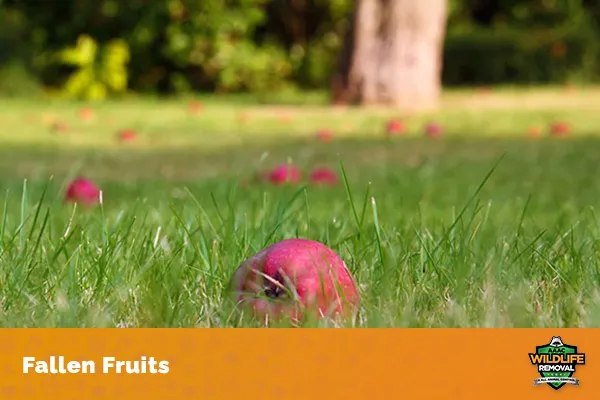
[[[599,2],[449,3],[446,85],[598,80]],[[0,93],[327,88],[352,7],[351,0],[4,0]],[[65,50],[82,38],[96,48],[92,59],[66,61]]]

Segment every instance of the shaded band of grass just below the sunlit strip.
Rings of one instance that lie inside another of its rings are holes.
[[[308,171],[317,166],[339,170],[341,160],[351,176],[386,171],[456,168],[486,170],[506,153],[500,170],[518,177],[531,172],[591,174],[600,154],[600,138],[585,139],[423,139],[302,140],[230,147],[143,150],[76,150],[3,147],[0,181],[47,180],[49,176],[84,175],[102,181],[196,181],[217,177],[248,178],[257,171],[291,160]]]

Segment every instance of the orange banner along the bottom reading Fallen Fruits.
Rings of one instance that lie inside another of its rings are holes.
[[[4,329],[0,399],[597,398],[596,329]]]

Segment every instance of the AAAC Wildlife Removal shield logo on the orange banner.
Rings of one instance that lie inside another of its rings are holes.
[[[579,386],[573,374],[577,365],[585,365],[585,353],[578,353],[577,346],[564,344],[560,336],[552,336],[550,343],[536,346],[535,353],[529,353],[529,360],[541,376],[533,380],[534,386],[546,383],[558,390],[567,383]]]

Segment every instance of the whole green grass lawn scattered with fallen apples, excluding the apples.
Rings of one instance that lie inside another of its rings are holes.
[[[290,237],[345,260],[356,326],[600,326],[600,90],[450,92],[395,138],[394,113],[302,99],[205,98],[194,116],[185,100],[130,100],[87,122],[81,105],[4,101],[0,326],[240,326],[231,273]],[[444,137],[422,137],[429,120]],[[527,136],[554,120],[573,134]],[[139,140],[118,143],[123,128]],[[341,183],[251,181],[288,160]],[[62,203],[76,175],[101,186],[101,207]]]

